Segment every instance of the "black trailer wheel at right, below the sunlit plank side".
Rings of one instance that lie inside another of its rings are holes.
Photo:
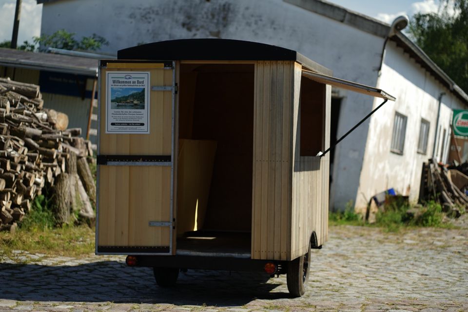
[[[293,297],[300,297],[306,292],[307,281],[309,280],[309,261],[311,258],[311,245],[307,254],[295,258],[288,263],[288,291]]]

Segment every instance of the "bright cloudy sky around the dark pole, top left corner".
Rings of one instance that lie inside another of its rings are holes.
[[[16,0],[0,0],[0,42],[11,40],[13,19],[15,18]],[[40,35],[42,4],[36,0],[23,0],[21,5],[18,44],[24,40],[32,42],[33,36]]]

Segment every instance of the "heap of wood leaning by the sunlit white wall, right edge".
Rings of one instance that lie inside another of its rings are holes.
[[[462,192],[448,175],[448,169],[439,165],[434,159],[429,159],[423,171],[421,197],[424,200],[437,200],[442,210],[448,216],[458,218],[460,210],[468,210],[468,197]]]

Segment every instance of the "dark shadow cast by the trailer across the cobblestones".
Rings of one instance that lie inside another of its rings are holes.
[[[268,282],[269,275],[262,273],[189,270],[180,273],[175,287],[160,288],[151,268],[129,268],[114,261],[78,266],[0,264],[0,278],[0,298],[12,300],[223,307],[289,297],[283,283]],[[283,287],[276,289],[279,286]]]

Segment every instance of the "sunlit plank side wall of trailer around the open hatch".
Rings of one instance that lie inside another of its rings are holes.
[[[300,156],[300,79],[302,66],[294,66],[293,137],[292,144],[292,246],[291,258],[304,255],[312,232],[318,245],[328,238],[330,154],[324,157]],[[302,77],[302,79],[306,79]],[[325,96],[325,146],[330,146],[331,86]]]

